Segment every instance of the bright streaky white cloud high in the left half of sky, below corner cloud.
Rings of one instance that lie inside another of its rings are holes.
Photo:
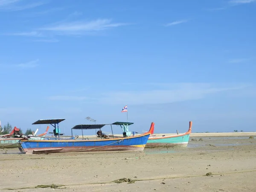
[[[87,32],[95,32],[114,27],[128,25],[128,23],[113,23],[110,19],[97,19],[92,21],[73,21],[65,23],[57,23],[51,26],[39,28],[42,31],[51,31],[60,34],[86,34]]]

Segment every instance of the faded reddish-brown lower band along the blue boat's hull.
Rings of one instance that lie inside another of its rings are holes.
[[[68,153],[68,152],[90,152],[90,151],[143,151],[144,147],[135,146],[104,146],[104,147],[59,147],[59,148],[26,148],[26,154],[38,153]]]

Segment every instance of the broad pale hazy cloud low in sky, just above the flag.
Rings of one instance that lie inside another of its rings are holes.
[[[162,87],[161,87],[162,86]],[[242,89],[247,85],[234,87],[213,87],[211,84],[182,83],[161,85],[158,89],[142,91],[113,91],[105,93],[97,102],[106,104],[132,105],[165,104],[194,99],[203,99],[210,94]]]

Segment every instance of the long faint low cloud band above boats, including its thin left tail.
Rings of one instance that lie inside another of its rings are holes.
[[[136,85],[142,86],[138,84]],[[140,91],[109,91],[106,93],[95,93],[95,96],[90,97],[51,96],[48,97],[48,99],[63,101],[90,101],[90,103],[96,102],[97,104],[113,105],[122,105],[123,103],[132,105],[165,104],[203,99],[212,94],[227,92],[231,90],[239,90],[247,86],[247,84],[236,86],[214,86],[207,83],[151,83],[143,85],[142,87],[144,87],[144,90],[142,89]],[[132,84],[130,87],[133,87]],[[150,90],[148,90],[149,87],[151,87]]]

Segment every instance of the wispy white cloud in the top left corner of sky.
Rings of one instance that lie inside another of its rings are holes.
[[[24,9],[32,9],[44,5],[43,1],[31,1],[24,3],[23,0],[0,0],[0,11],[20,11]]]

